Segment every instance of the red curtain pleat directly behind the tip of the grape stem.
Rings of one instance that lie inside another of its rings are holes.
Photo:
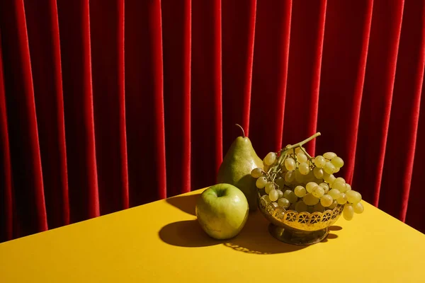
[[[326,8],[326,0],[293,2],[282,146],[317,132]],[[315,143],[306,144],[311,154]]]

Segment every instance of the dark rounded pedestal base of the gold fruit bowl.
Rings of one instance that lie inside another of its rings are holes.
[[[285,229],[274,224],[268,225],[268,231],[271,233],[271,236],[277,238],[279,241],[291,245],[312,245],[314,243],[319,243],[323,241],[329,233],[327,228],[318,231],[297,231]]]

